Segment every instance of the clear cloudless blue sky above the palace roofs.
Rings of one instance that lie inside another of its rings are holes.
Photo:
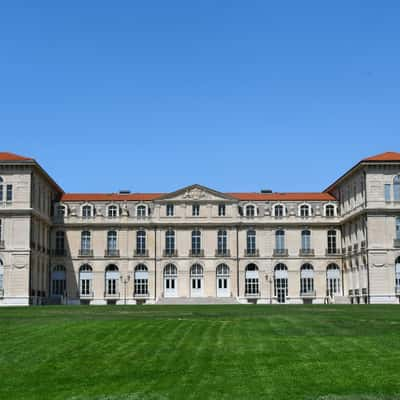
[[[322,190],[400,151],[400,2],[1,2],[0,149],[70,192]]]

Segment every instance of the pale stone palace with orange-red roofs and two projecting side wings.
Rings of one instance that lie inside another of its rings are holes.
[[[0,153],[0,306],[397,303],[400,153],[320,193],[64,193]]]

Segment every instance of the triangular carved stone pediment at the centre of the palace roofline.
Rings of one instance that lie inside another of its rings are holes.
[[[168,193],[157,199],[158,201],[237,201],[235,198],[202,185],[190,185],[175,192]]]

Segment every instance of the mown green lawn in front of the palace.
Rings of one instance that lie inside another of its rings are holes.
[[[0,399],[400,399],[399,306],[0,309]]]

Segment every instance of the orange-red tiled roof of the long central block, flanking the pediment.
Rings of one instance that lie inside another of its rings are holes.
[[[165,193],[65,193],[61,201],[148,201],[157,200]],[[329,193],[226,193],[243,201],[330,201]]]

